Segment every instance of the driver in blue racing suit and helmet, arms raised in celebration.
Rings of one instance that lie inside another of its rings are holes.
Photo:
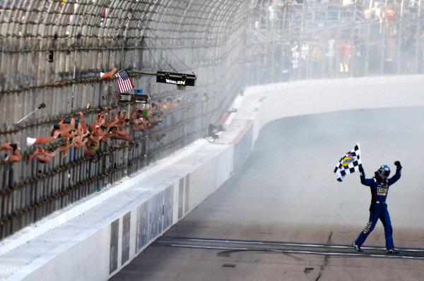
[[[391,221],[389,211],[387,211],[386,198],[389,192],[389,187],[401,178],[401,163],[395,161],[396,173],[393,177],[388,178],[390,175],[390,168],[387,165],[379,167],[375,172],[375,177],[366,179],[365,172],[362,164],[359,166],[360,182],[367,185],[371,189],[371,206],[370,206],[370,221],[365,226],[364,230],[353,243],[356,251],[363,251],[360,249],[362,244],[367,239],[368,235],[374,230],[378,219],[382,221],[384,226],[384,237],[386,237],[386,249],[390,254],[399,254],[399,251],[394,249]]]

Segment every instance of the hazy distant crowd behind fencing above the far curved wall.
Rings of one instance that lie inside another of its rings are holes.
[[[307,8],[303,8],[304,5]],[[416,24],[418,1],[258,0],[257,7],[261,20],[254,26],[255,43],[263,30],[278,31],[283,37],[285,32],[291,35],[285,36],[283,43],[275,48],[260,51],[270,65],[274,64],[269,60],[281,61],[282,81],[360,77],[367,71],[424,72],[424,32],[420,32],[423,28]],[[402,21],[399,19],[401,13]],[[308,29],[305,23],[313,19],[315,25],[319,25],[319,20],[329,25],[332,19],[338,25],[341,16],[347,20],[353,17],[359,22],[362,20],[368,29],[354,34],[351,28],[346,32],[340,28],[319,32]],[[302,32],[301,26],[304,27]],[[278,38],[277,35],[273,37]]]

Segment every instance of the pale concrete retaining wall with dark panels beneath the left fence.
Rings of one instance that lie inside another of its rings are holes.
[[[145,169],[127,179],[126,182],[134,180],[131,187],[110,199],[101,203],[88,199],[98,206],[76,218],[47,231],[41,230],[42,224],[47,223],[42,221],[40,230],[44,233],[33,233],[27,244],[23,244],[22,232],[6,239],[5,244],[13,243],[13,238],[20,235],[23,245],[0,256],[4,266],[0,270],[2,280],[107,280],[117,273],[230,177],[233,146],[213,145],[204,139],[199,142],[202,143],[174,163],[166,164],[170,161],[164,159],[160,168],[153,167],[158,170],[155,173]],[[151,175],[143,177],[143,173]],[[106,213],[108,205],[118,206],[118,211]],[[78,206],[64,212],[74,212],[75,208]],[[104,218],[91,225],[99,216]],[[73,226],[84,230],[67,239],[63,234]],[[37,232],[37,227],[31,231]],[[54,239],[66,241],[53,247],[43,245],[54,244]],[[37,249],[40,254],[35,258],[6,270],[6,263],[20,253]]]

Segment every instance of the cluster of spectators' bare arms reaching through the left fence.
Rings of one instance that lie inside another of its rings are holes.
[[[198,95],[194,94],[194,98],[196,96]],[[206,93],[203,94],[202,100],[207,101]],[[94,123],[87,123],[83,112],[80,111],[78,118],[65,117],[60,123],[54,124],[45,137],[27,137],[26,146],[30,153],[27,153],[25,161],[27,165],[34,160],[39,163],[49,163],[58,155],[68,156],[69,149],[83,149],[84,156],[90,156],[99,151],[102,142],[108,142],[109,139],[132,143],[131,131],[154,132],[163,123],[163,118],[167,117],[169,111],[179,107],[184,107],[184,111],[188,111],[191,104],[192,99],[184,99],[184,96],[181,95],[179,97],[167,96],[164,101],[158,99],[148,104],[134,104],[131,106],[132,112],[130,113],[126,110],[116,112],[112,108],[104,107],[101,108]],[[88,103],[87,108],[91,107],[92,105]],[[152,140],[157,142],[163,137],[165,137],[165,132],[159,132],[154,135]],[[55,142],[56,145],[49,146],[49,143],[53,141],[61,142]],[[59,154],[57,149],[59,149]],[[0,146],[0,151],[6,152],[4,163],[23,160],[18,144],[4,144]]]

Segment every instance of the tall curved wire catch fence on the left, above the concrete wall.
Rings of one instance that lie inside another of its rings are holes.
[[[249,11],[233,1],[1,0],[0,145],[16,143],[23,160],[0,158],[0,237],[207,136],[242,89],[235,76]],[[132,142],[101,142],[93,155],[71,147],[65,156],[63,138],[27,146],[66,116],[82,112],[95,124],[104,107],[114,116],[141,106],[119,102],[117,80],[100,78],[112,68],[128,70],[151,102],[180,102],[155,130],[127,126]],[[196,85],[181,91],[141,74],[158,70],[195,74]],[[35,148],[57,156],[27,164]]]

